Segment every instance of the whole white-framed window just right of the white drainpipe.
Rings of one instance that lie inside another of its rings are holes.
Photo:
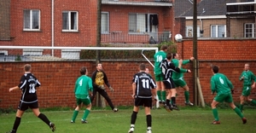
[[[64,11],[62,12],[62,31],[78,32],[78,12]]]

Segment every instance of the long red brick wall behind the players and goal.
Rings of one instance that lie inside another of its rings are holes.
[[[256,54],[254,40],[199,40],[198,61],[201,89],[206,103],[210,103],[211,95],[210,78],[211,66],[220,67],[219,72],[224,73],[235,86],[234,101],[239,101],[242,83],[239,76],[245,63],[250,63],[251,70],[256,73]],[[193,43],[185,40],[177,43],[177,53],[183,54],[183,59],[193,55]],[[114,91],[108,95],[114,106],[131,106],[131,79],[138,72],[140,63],[147,61],[102,61],[103,69],[108,75],[108,80]],[[94,61],[35,61],[35,62],[0,62],[0,108],[17,107],[20,100],[20,90],[9,92],[9,88],[19,84],[23,74],[23,66],[32,64],[32,73],[39,79],[42,86],[38,89],[39,107],[75,107],[73,87],[79,77],[79,68],[87,67],[89,75],[96,70]],[[192,64],[184,66],[193,71]],[[194,79],[192,73],[185,73],[185,80],[189,85],[190,101],[195,100]],[[183,90],[179,89],[177,104],[183,106]],[[252,90],[252,98],[256,98],[256,90]],[[96,101],[93,102],[94,106]],[[108,104],[107,104],[108,105]]]

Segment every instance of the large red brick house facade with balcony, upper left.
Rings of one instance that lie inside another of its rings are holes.
[[[96,0],[0,3],[0,16],[5,18],[0,20],[2,46],[96,46]],[[174,29],[172,13],[172,0],[102,0],[102,43],[170,41]],[[51,50],[38,50],[37,54],[53,55]],[[9,49],[5,53],[29,55],[26,49]]]

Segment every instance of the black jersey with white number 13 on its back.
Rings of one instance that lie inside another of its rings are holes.
[[[38,101],[37,87],[41,86],[38,79],[32,73],[25,73],[20,78],[18,87],[22,91],[21,102],[33,103]]]

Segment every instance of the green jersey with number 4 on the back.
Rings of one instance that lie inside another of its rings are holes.
[[[74,88],[76,98],[85,99],[89,95],[89,90],[93,90],[91,78],[86,75],[80,76]]]

